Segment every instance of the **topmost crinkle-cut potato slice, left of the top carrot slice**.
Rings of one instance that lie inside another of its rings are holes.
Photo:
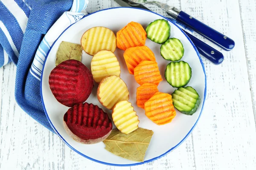
[[[93,56],[100,50],[114,52],[116,50],[116,35],[106,27],[93,27],[84,32],[81,37],[83,50]]]

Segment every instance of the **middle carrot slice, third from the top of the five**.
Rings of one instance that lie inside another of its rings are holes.
[[[154,61],[140,62],[140,64],[134,68],[134,78],[140,85],[143,85],[146,82],[159,85],[163,80],[157,62]]]

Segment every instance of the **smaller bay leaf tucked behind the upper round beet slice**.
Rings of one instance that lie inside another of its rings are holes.
[[[68,59],[76,59],[78,61],[81,61],[81,57],[82,46],[80,44],[62,41],[58,47],[55,65],[57,66],[61,62],[66,61]]]

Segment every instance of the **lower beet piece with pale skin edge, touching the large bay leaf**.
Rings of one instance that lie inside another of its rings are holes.
[[[87,102],[68,109],[63,120],[67,133],[83,144],[102,142],[110,135],[113,127],[107,113]]]

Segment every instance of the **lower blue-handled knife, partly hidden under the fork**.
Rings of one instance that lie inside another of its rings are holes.
[[[145,7],[143,5],[131,6],[129,4],[130,2],[128,0],[115,0],[115,1],[120,6],[123,6],[123,7],[135,7],[135,8],[142,8],[142,9],[151,11],[150,9],[148,9],[147,7]],[[172,20],[171,18],[167,18],[167,19]],[[198,38],[192,36],[188,32],[186,32],[186,31],[184,31],[184,32],[192,40],[192,42],[194,43],[195,47],[198,49],[199,54],[202,57],[206,58],[207,60],[209,60],[210,62],[212,62],[215,65],[221,64],[221,62],[224,60],[223,54],[221,54],[219,51],[217,51],[216,49],[212,48],[211,46],[207,45],[203,41],[199,40]]]

